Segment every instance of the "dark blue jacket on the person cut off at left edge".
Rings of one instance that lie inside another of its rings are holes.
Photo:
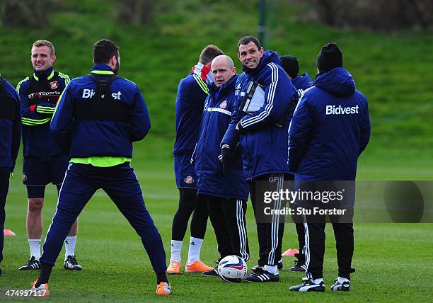
[[[0,76],[0,166],[15,168],[20,149],[20,97],[15,88]]]

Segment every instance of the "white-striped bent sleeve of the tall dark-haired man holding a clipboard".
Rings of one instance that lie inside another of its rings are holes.
[[[296,94],[296,88],[277,64],[270,63],[265,68],[270,69],[265,78],[265,103],[255,113],[242,118],[241,127],[246,131],[279,122]]]

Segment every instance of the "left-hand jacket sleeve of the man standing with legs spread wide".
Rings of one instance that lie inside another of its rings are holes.
[[[50,124],[51,134],[66,153],[69,153],[74,124],[74,103],[70,86],[67,86],[60,95]]]

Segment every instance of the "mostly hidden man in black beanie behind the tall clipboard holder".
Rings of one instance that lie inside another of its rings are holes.
[[[311,80],[310,75],[307,73],[301,74],[299,73],[299,62],[298,58],[291,55],[284,55],[280,57],[281,66],[284,69],[284,72],[289,76],[291,84],[298,90],[299,96],[301,96],[307,88],[310,88],[313,85],[313,80]],[[295,253],[296,260],[294,261],[294,266],[289,268],[290,271],[305,271],[305,255],[302,253],[302,250],[305,246],[305,229],[304,224],[301,220],[295,219],[295,227],[296,234],[298,235],[298,243],[299,243],[299,253]],[[299,222],[296,222],[299,221]],[[282,239],[280,239],[282,241]],[[279,244],[282,246],[282,243]]]

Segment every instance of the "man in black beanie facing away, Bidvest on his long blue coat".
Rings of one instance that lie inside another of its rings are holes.
[[[355,89],[352,75],[342,67],[342,52],[335,43],[322,47],[317,68],[316,81],[301,97],[289,127],[289,171],[295,174],[295,186],[307,181],[315,186],[319,184],[316,181],[332,181],[337,186],[342,181],[353,184],[358,156],[370,137],[367,101]],[[354,200],[347,200],[349,216],[330,215],[338,263],[333,291],[350,290]],[[305,219],[306,279],[290,290],[324,292],[325,215],[308,215]]]

